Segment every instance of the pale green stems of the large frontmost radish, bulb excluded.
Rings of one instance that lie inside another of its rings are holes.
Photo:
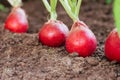
[[[79,11],[82,0],[59,0],[67,14],[75,22],[79,20]]]

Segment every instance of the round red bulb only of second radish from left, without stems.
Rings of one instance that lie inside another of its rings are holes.
[[[40,41],[51,47],[61,46],[67,37],[68,28],[65,24],[57,20],[49,20],[46,22],[40,32]]]

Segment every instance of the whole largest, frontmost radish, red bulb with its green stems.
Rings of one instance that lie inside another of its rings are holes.
[[[74,22],[66,39],[66,50],[71,54],[77,52],[82,57],[92,55],[96,50],[97,41],[88,26],[79,20],[79,9],[82,1],[60,0],[60,2]]]

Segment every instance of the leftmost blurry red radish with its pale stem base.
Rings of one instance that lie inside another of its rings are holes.
[[[5,21],[5,29],[11,32],[24,33],[28,30],[28,20],[25,11],[21,8],[21,0],[8,0],[13,6],[11,13]]]

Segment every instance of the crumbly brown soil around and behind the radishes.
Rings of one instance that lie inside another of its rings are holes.
[[[114,20],[112,4],[103,1],[83,0],[80,10],[80,19],[98,40],[95,53],[86,58],[69,55],[64,46],[52,48],[38,41],[38,31],[49,18],[41,0],[24,3],[30,23],[24,34],[5,30],[9,12],[0,11],[0,80],[120,80],[120,64],[104,55],[104,42],[114,28]],[[58,6],[58,19],[70,29],[72,20]]]

